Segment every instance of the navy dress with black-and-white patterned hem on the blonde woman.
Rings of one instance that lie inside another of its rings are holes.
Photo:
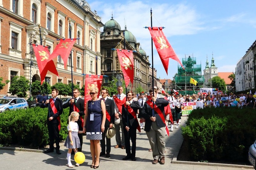
[[[101,123],[101,100],[88,101],[88,116],[86,120],[86,139],[102,140]]]

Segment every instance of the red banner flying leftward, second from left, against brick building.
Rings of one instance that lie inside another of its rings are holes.
[[[68,56],[70,55],[70,51],[72,50],[72,47],[74,43],[76,42],[75,39],[62,39],[60,40],[60,43],[55,47],[53,50],[50,59],[53,59],[60,55],[60,57],[63,60],[64,66],[66,66],[66,63],[68,61]]]

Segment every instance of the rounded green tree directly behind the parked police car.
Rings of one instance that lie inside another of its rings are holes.
[[[29,90],[29,80],[24,76],[15,76],[11,80],[9,92],[11,95],[17,95],[18,97],[26,97],[27,91]]]

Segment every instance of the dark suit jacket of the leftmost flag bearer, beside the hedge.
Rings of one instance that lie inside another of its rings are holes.
[[[58,120],[57,120],[57,117],[60,116],[63,112],[63,107],[62,107],[62,100],[59,99],[59,98],[56,98],[55,102],[54,102],[54,105],[57,109],[57,113],[54,114],[53,111],[52,111],[52,107],[50,106],[50,103],[49,104],[42,104],[41,107],[42,108],[45,108],[45,107],[48,107],[49,106],[49,110],[50,110],[50,116],[49,116],[49,113],[47,113],[47,122],[51,122],[51,123],[56,123],[58,124]],[[49,121],[49,117],[53,117],[53,120]]]

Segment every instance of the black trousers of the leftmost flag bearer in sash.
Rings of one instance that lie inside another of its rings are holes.
[[[50,149],[54,149],[54,140],[56,143],[56,150],[60,150],[60,131],[58,128],[58,123],[52,123],[47,121],[47,127],[48,127],[48,134],[49,134],[49,140],[50,140]]]

